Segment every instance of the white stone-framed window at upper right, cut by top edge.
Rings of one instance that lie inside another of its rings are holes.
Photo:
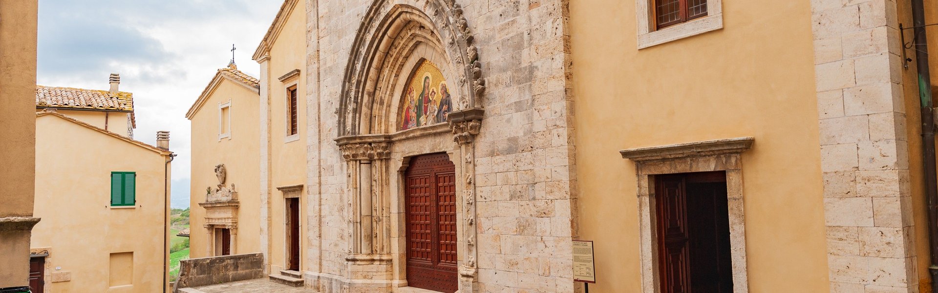
[[[639,49],[723,28],[722,0],[635,0]]]

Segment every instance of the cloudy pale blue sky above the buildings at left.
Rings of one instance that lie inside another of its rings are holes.
[[[38,84],[108,89],[120,73],[134,96],[134,138],[156,143],[171,131],[174,208],[189,207],[186,112],[234,43],[238,69],[250,60],[281,0],[39,0]],[[212,172],[212,170],[197,170]]]

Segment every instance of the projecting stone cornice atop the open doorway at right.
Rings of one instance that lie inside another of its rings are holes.
[[[620,150],[622,158],[635,162],[686,157],[738,154],[752,147],[754,137],[738,137],[667,146],[650,146]]]

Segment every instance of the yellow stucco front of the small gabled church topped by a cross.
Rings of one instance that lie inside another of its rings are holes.
[[[192,129],[192,173],[189,194],[189,256],[212,256],[203,227],[205,189],[219,184],[215,166],[224,163],[226,185],[234,183],[241,202],[238,208],[238,230],[232,254],[260,253],[260,136],[261,130],[256,92],[222,80],[208,93],[202,108],[190,117]],[[219,104],[231,101],[231,136],[219,139]]]

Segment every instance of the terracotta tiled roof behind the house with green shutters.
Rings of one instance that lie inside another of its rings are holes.
[[[36,106],[133,111],[133,94],[106,90],[36,85]]]

